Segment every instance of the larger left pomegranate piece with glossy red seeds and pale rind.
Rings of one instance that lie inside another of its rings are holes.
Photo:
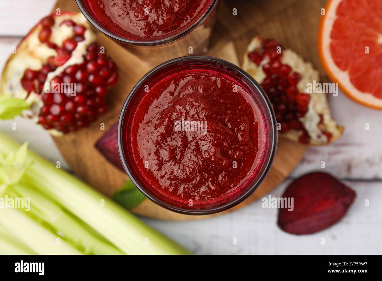
[[[23,115],[58,134],[105,114],[105,97],[117,81],[115,63],[84,16],[62,13],[45,17],[23,39],[5,65],[1,93],[26,99],[31,107]]]

